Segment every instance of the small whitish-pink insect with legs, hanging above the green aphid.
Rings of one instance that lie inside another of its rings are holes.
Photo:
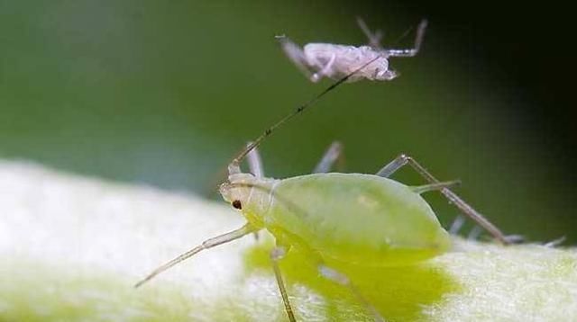
[[[389,67],[391,57],[413,57],[420,49],[426,29],[426,21],[422,21],[417,30],[415,46],[412,49],[384,49],[380,47],[380,31],[372,33],[362,20],[358,20],[362,31],[369,38],[370,46],[350,46],[332,43],[308,43],[300,49],[297,44],[285,36],[277,37],[282,49],[289,59],[312,82],[318,82],[323,77],[340,79],[350,76],[347,82],[362,79],[375,81],[392,80],[398,72]],[[368,62],[372,63],[361,68]],[[353,74],[353,71],[359,69]]]

